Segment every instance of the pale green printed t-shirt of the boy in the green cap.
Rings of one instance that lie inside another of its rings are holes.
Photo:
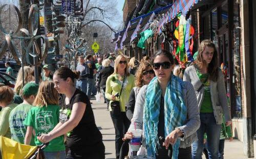
[[[24,144],[24,139],[27,132],[27,126],[24,125],[24,120],[28,116],[30,109],[33,106],[30,104],[19,104],[15,107],[9,116],[10,130],[12,134],[12,140],[18,143]],[[30,145],[35,146],[35,137],[32,136]]]

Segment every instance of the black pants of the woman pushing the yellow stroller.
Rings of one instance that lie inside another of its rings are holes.
[[[102,141],[81,150],[69,150],[66,159],[104,159],[105,146]]]

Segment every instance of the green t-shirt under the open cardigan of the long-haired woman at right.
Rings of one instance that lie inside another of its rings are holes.
[[[204,84],[204,99],[201,105],[200,113],[213,113],[211,98],[210,98],[210,83],[208,80],[208,73],[200,73],[197,69],[197,75],[200,81]]]

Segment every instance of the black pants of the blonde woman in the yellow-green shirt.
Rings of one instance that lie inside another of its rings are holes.
[[[111,119],[113,121],[114,127],[115,127],[115,134],[116,134],[116,158],[119,158],[120,155],[120,149],[122,147],[123,141],[122,138],[126,131],[128,130],[131,122],[126,117],[125,112],[121,112],[120,115],[116,115],[113,112],[110,112]],[[128,154],[128,152],[125,152],[124,154]]]

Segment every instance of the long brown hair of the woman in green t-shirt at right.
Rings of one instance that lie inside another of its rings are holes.
[[[195,63],[199,67],[199,69],[203,68],[203,66],[206,65],[206,62],[203,59],[203,51],[206,46],[214,48],[214,56],[212,57],[211,62],[207,67],[207,72],[209,73],[209,79],[211,81],[216,82],[218,79],[218,55],[217,55],[216,46],[212,41],[206,39],[200,43],[200,46],[198,49],[198,56]]]

